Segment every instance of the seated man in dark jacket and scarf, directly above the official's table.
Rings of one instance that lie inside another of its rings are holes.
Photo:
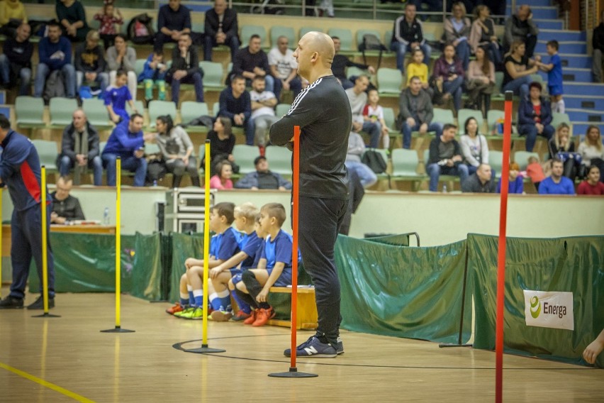
[[[80,170],[88,168],[93,172],[94,184],[101,186],[103,162],[99,155],[99,132],[82,109],[74,111],[72,123],[63,130],[61,153],[57,160],[62,177],[67,177],[72,167],[76,167],[77,175]]]

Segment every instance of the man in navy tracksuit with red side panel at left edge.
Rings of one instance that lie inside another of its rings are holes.
[[[13,201],[11,218],[11,263],[13,265],[13,283],[11,293],[0,301],[0,309],[23,308],[23,298],[31,258],[38,267],[38,277],[42,279],[42,211],[40,209],[40,158],[31,141],[11,129],[9,119],[0,114],[0,184],[9,187]],[[50,218],[52,206],[50,194],[46,192],[47,217]],[[50,219],[46,222],[50,231]],[[47,238],[48,249],[48,307],[55,306],[55,267]],[[42,284],[40,280],[40,292]],[[40,296],[28,309],[43,309]]]

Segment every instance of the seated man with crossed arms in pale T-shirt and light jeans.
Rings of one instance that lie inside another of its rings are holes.
[[[279,118],[275,116],[274,110],[274,107],[277,104],[276,96],[264,88],[264,77],[254,77],[252,81],[252,91],[250,91],[252,114],[247,120],[247,128],[245,130],[246,143],[248,145],[250,143],[252,143],[252,145],[257,143],[261,150],[267,145],[267,136],[271,126],[279,120]]]

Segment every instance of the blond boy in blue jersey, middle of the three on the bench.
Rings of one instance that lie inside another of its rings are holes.
[[[228,321],[231,317],[234,317],[235,321],[242,321],[250,316],[250,306],[241,301],[239,297],[237,297],[237,294],[232,290],[235,288],[233,286],[233,281],[235,281],[235,283],[241,281],[242,271],[248,270],[250,267],[256,267],[254,262],[257,257],[257,250],[259,246],[262,245],[262,238],[259,238],[257,231],[255,231],[255,219],[258,212],[258,208],[252,203],[244,203],[235,207],[235,228],[244,233],[240,243],[241,250],[225,263],[210,270],[212,285],[216,293],[223,292],[225,289],[230,289],[230,294],[233,296],[233,299],[235,299],[235,302],[237,302],[237,306],[239,307],[236,316],[233,316],[232,311],[227,311],[225,309],[213,311],[212,319],[215,321]]]

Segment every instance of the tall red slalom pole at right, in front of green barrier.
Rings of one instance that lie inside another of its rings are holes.
[[[510,148],[512,144],[512,97],[505,92],[503,123],[503,164],[499,206],[499,245],[497,258],[497,316],[495,326],[495,402],[503,402],[503,307],[505,304],[505,231],[508,223],[508,183],[510,182]]]

